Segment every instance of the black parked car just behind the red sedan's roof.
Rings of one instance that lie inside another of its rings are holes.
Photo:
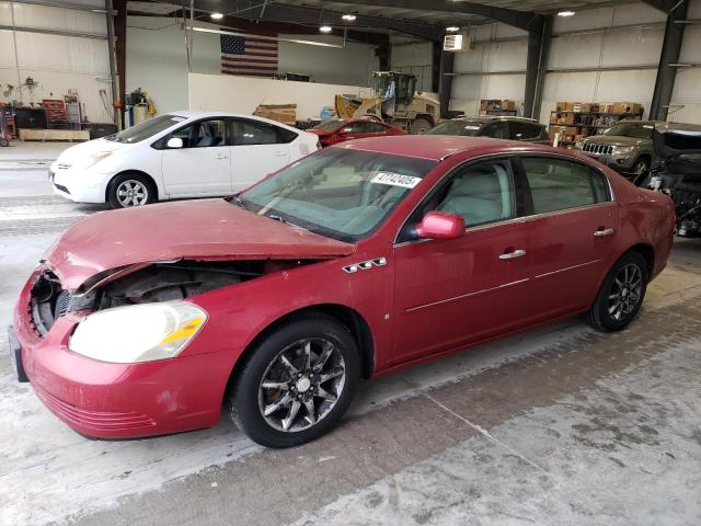
[[[457,135],[462,137],[492,137],[548,144],[548,129],[535,118],[508,116],[458,117],[444,121],[426,135]]]

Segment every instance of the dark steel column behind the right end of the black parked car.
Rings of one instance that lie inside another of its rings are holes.
[[[524,116],[540,118],[543,84],[548,69],[548,54],[552,39],[552,16],[543,16],[541,23],[528,32],[528,57],[526,59],[526,90]]]

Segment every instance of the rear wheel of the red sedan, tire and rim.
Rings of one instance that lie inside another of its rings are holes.
[[[645,298],[647,279],[645,258],[635,251],[623,254],[606,276],[587,313],[587,322],[604,332],[624,329],[637,316]]]

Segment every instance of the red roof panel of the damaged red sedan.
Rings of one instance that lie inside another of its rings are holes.
[[[476,156],[486,153],[508,153],[516,151],[558,152],[562,155],[566,150],[554,150],[550,146],[524,144],[516,140],[493,139],[490,137],[464,137],[452,135],[404,135],[394,137],[376,137],[370,139],[356,139],[332,148],[346,148],[349,150],[372,151],[395,156],[415,157],[440,161],[449,156],[461,152],[471,152]],[[576,156],[573,156],[576,157]]]

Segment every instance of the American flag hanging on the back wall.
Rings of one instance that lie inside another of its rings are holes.
[[[277,71],[277,41],[262,35],[219,35],[221,72],[272,77]]]

